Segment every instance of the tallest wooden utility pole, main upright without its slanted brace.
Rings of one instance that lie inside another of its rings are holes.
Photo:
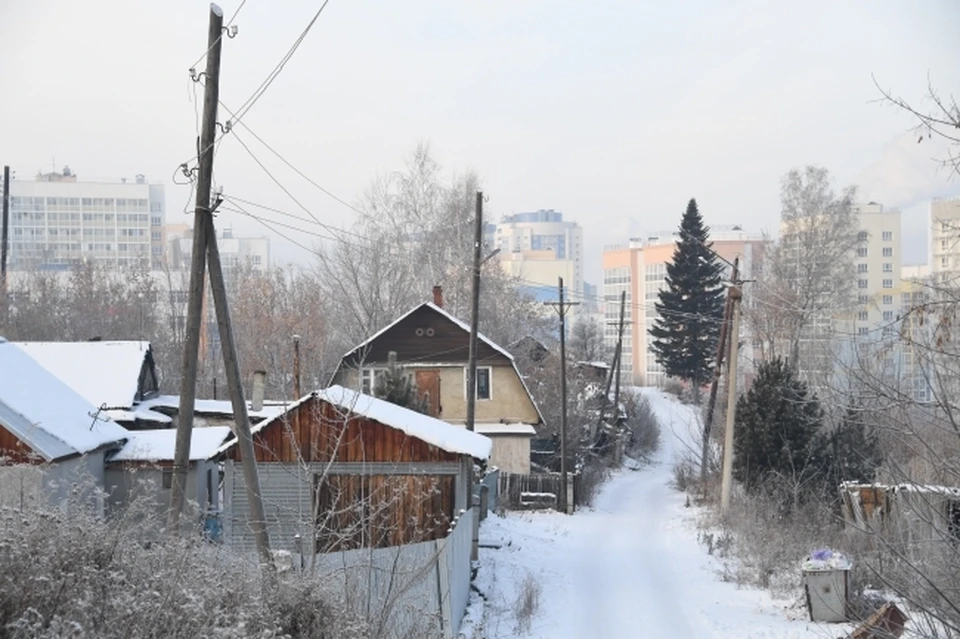
[[[220,96],[220,45],[223,30],[223,11],[210,5],[210,24],[207,29],[207,70],[204,74],[203,128],[200,135],[197,200],[193,222],[193,254],[190,261],[190,288],[187,298],[187,324],[183,345],[183,366],[180,383],[176,448],[173,456],[173,478],[170,491],[169,528],[173,534],[180,531],[187,467],[190,460],[190,434],[193,431],[193,412],[197,399],[197,358],[200,349],[200,331],[203,329],[203,277],[206,270],[207,229],[212,218],[210,186],[213,179],[213,146],[217,134],[217,104]]]

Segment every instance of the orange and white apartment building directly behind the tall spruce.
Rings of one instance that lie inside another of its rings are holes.
[[[617,340],[620,294],[627,294],[629,324],[624,329],[620,366],[625,383],[656,386],[665,380],[663,367],[650,349],[649,330],[658,318],[654,304],[666,286],[667,264],[673,260],[677,239],[676,232],[654,233],[603,251],[604,340],[611,348]],[[739,226],[714,227],[710,241],[723,259],[733,262],[740,258],[741,277],[752,276],[763,249],[760,235],[746,233]]]

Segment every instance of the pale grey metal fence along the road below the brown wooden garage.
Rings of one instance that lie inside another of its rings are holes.
[[[464,512],[436,541],[318,555],[315,570],[380,625],[378,636],[455,637],[470,597],[475,516]]]

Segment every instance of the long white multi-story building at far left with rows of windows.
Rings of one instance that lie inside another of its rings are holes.
[[[132,182],[85,182],[64,167],[34,180],[11,179],[9,268],[156,265],[164,209],[163,185],[148,184],[143,175]]]

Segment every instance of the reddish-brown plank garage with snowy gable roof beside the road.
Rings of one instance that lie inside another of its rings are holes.
[[[304,555],[444,537],[468,508],[474,460],[491,449],[482,435],[341,386],[264,420],[253,439],[271,546]],[[252,551],[236,440],[219,454],[224,542]]]

